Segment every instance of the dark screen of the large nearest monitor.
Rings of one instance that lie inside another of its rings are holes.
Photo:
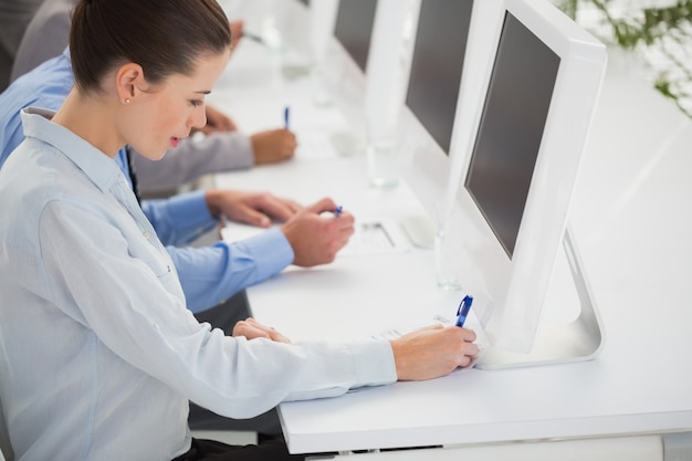
[[[559,56],[505,14],[465,187],[512,258]]]

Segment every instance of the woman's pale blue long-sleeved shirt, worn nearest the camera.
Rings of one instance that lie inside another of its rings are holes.
[[[200,325],[116,163],[51,116],[23,112],[0,170],[0,400],[19,460],[170,460],[190,447],[188,399],[244,418],[396,379],[386,340]]]

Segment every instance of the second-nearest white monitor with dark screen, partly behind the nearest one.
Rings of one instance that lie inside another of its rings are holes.
[[[397,161],[399,175],[426,210],[401,223],[418,247],[432,247],[433,209],[447,190],[449,149],[457,118],[463,116],[457,115],[457,106],[475,3],[420,1]]]

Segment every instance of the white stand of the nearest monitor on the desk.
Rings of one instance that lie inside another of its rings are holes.
[[[549,325],[541,323],[534,345],[530,353],[522,354],[508,349],[490,347],[484,350],[475,364],[481,369],[504,369],[552,365],[570,362],[590,360],[598,355],[604,345],[604,328],[600,316],[594,303],[589,282],[584,273],[579,251],[573,239],[569,227],[563,239],[564,253],[558,258],[566,258],[570,279],[576,289],[578,316],[565,324]],[[558,264],[556,264],[557,266]],[[569,275],[566,275],[569,277]],[[551,284],[555,282],[555,274]],[[564,297],[564,293],[560,292]],[[551,308],[549,296],[544,311]],[[562,300],[558,300],[562,301]]]

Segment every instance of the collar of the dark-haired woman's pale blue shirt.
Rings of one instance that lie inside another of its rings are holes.
[[[102,191],[108,191],[125,179],[118,165],[111,157],[67,128],[52,123],[53,115],[54,111],[38,107],[22,109],[24,136],[53,146],[84,171]]]

